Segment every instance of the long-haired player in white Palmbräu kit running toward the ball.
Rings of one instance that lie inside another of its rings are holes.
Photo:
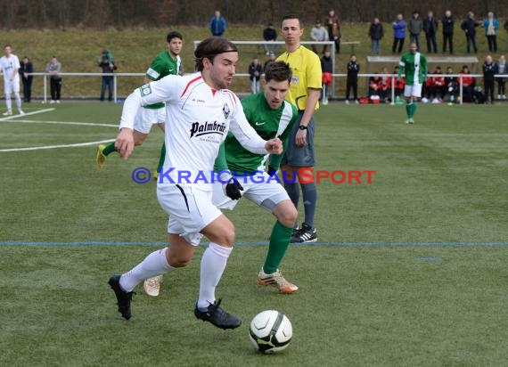
[[[234,329],[242,320],[227,313],[215,297],[233,249],[234,225],[212,204],[210,175],[229,130],[242,146],[258,154],[280,154],[283,145],[278,138],[265,141],[259,137],[247,122],[238,97],[226,89],[233,81],[238,61],[234,44],[225,38],[209,37],[198,45],[194,58],[197,73],[184,77],[170,75],[144,85],[130,94],[124,104],[116,148],[120,157],[127,159],[135,145],[136,111],[146,104],[166,102],[168,150],[160,171],[157,197],[169,214],[169,245],[152,252],[127,273],[111,276],[109,284],[115,292],[119,313],[130,319],[135,286],[154,275],[187,265],[204,235],[210,242],[201,258],[200,292],[194,315],[218,328]],[[180,179],[182,172],[190,175],[190,183]]]

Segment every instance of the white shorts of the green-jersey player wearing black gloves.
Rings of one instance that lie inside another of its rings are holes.
[[[242,184],[242,196],[259,207],[265,208],[270,213],[274,211],[275,205],[281,201],[290,200],[283,185],[273,178],[270,179],[270,175],[266,172],[258,172],[252,177],[239,176],[236,179]],[[226,196],[222,186],[223,184],[219,181],[213,184],[212,202],[219,209],[233,210],[239,200],[233,200]]]

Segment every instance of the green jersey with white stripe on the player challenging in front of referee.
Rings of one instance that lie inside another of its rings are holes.
[[[263,139],[274,139],[279,137],[283,141],[285,151],[288,136],[291,134],[291,127],[295,124],[298,111],[290,102],[284,101],[277,110],[272,110],[266,102],[265,94],[259,92],[242,99],[242,107],[250,126]],[[270,167],[278,169],[283,159],[283,154],[270,156],[269,154],[255,154],[247,151],[236,140],[233,134],[229,133],[222,144],[215,162],[215,171],[229,169],[237,171],[239,175],[244,172],[252,173],[264,171],[266,159],[270,159]]]

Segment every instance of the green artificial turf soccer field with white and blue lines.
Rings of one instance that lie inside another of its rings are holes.
[[[399,106],[319,110],[316,169],[375,170],[372,184],[319,184],[319,242],[282,266],[292,296],[256,283],[272,216],[247,201],[225,213],[238,246],[217,296],[244,322],[228,331],[193,316],[204,244],[160,298],[137,290],[133,318],[120,317],[108,278],[166,239],[155,184],[131,178],[155,168],[162,134],[99,170],[94,142],[115,137],[121,105],[45,109],[0,118],[0,365],[506,365],[504,105],[422,105],[414,126]],[[266,309],[293,324],[281,355],[250,346]]]

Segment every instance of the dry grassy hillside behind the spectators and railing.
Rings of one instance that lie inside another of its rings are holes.
[[[311,25],[307,25],[305,40],[309,40],[308,34]],[[389,24],[384,24],[385,34],[382,42],[382,53],[391,54],[392,31]],[[101,55],[103,48],[111,49],[114,59],[117,62],[118,72],[143,73],[148,67],[155,54],[159,53],[166,46],[166,34],[168,29],[109,29],[98,31],[91,29],[70,29],[61,30],[13,30],[9,32],[0,32],[0,37],[4,44],[12,44],[14,53],[20,58],[29,56],[34,62],[36,71],[44,71],[45,63],[53,55],[57,56],[62,63],[64,72],[100,72],[96,66],[96,61]],[[370,50],[370,40],[367,37],[367,23],[344,23],[341,26],[342,41],[359,41],[361,44],[356,48],[358,60],[362,63],[365,70],[365,57]],[[179,27],[178,30],[184,35],[186,43],[182,54],[184,59],[184,68],[186,71],[193,70],[193,40],[200,40],[209,37],[209,31],[205,28],[197,27]],[[227,30],[226,37],[232,40],[254,40],[261,39],[263,26],[243,26],[231,25]],[[425,45],[424,37],[422,37]],[[407,39],[406,39],[407,43]],[[488,53],[488,46],[483,30],[479,29],[479,60],[482,61]],[[498,46],[500,53],[506,52],[508,47],[506,33],[500,32],[498,37]],[[438,36],[438,46],[441,46],[441,37]],[[426,47],[423,46],[423,52]],[[343,46],[340,57],[337,60],[337,72],[344,72],[348,61],[348,55],[351,51],[349,46]],[[465,45],[462,31],[455,31],[455,53],[457,56],[464,55]],[[241,59],[237,68],[238,73],[247,72],[250,60],[255,55],[259,55],[263,60],[265,58],[260,46],[242,46]],[[457,69],[456,66],[455,69]],[[391,68],[390,68],[391,69]],[[371,71],[374,69],[371,68]],[[135,86],[141,82],[141,77],[122,78],[119,84],[119,94],[126,95]],[[65,77],[62,88],[62,97],[66,96],[94,96],[100,91],[100,77]],[[245,79],[238,78],[234,84],[234,90],[237,92],[246,92],[248,86]],[[341,84],[338,84],[341,88]],[[37,77],[34,81],[33,93],[35,97],[42,95],[42,78]]]

